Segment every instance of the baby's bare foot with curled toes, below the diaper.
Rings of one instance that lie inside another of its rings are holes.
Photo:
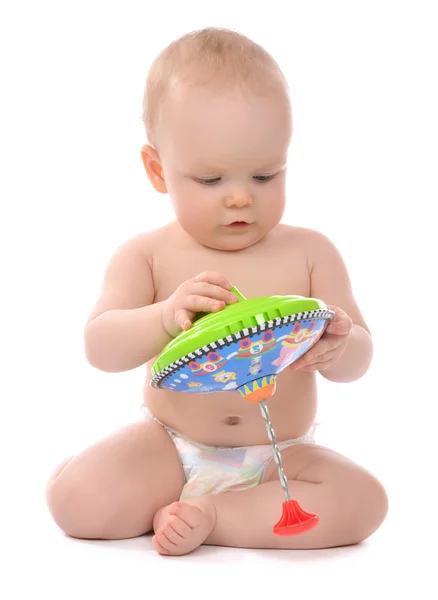
[[[159,554],[188,554],[210,535],[216,523],[214,506],[199,499],[190,500],[190,504],[174,502],[156,513],[152,545]]]

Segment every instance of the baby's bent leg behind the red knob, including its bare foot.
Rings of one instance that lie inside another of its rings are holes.
[[[157,513],[155,538],[161,554],[179,554],[204,544],[236,548],[311,549],[357,544],[383,522],[388,500],[382,485],[365,469],[344,456],[312,444],[282,452],[289,492],[306,512],[320,521],[306,533],[277,536],[272,532],[282,514],[284,492],[273,461],[263,483],[239,492],[208,494],[172,504]],[[177,517],[175,509],[178,510]],[[200,512],[205,514],[201,517]],[[179,520],[188,527],[178,535]],[[207,527],[208,525],[208,527]],[[176,529],[176,531],[175,531]],[[190,544],[190,538],[194,543]],[[197,542],[197,543],[196,543]]]

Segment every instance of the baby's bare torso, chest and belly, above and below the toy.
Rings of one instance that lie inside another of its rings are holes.
[[[235,253],[219,253],[205,247],[190,250],[191,241],[173,224],[155,239],[153,264],[160,265],[160,271],[153,273],[156,301],[166,299],[179,284],[203,271],[223,273],[247,298],[292,293],[308,297],[310,277],[303,240],[300,240],[305,236],[304,230],[281,225],[258,245],[240,251],[236,260]],[[171,248],[166,243],[169,237],[175,244]],[[290,276],[284,277],[283,273]],[[266,428],[257,405],[243,402],[236,392],[215,394],[212,398],[207,394],[151,388],[153,361],[147,365],[144,400],[160,421],[205,444],[267,443]],[[268,406],[273,422],[277,423],[279,440],[304,434],[316,416],[315,374],[284,371],[278,378],[275,399],[268,401]],[[238,424],[227,425],[230,417],[237,417]]]

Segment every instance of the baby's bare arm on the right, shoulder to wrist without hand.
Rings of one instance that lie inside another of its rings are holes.
[[[373,355],[370,330],[353,296],[350,278],[341,254],[323,234],[308,230],[310,295],[341,308],[353,321],[342,356],[320,373],[330,381],[355,381],[364,375]]]

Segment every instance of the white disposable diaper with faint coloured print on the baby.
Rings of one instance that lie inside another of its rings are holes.
[[[259,446],[207,446],[170,429],[156,419],[145,406],[145,418],[160,423],[175,444],[185,484],[180,500],[205,494],[240,491],[259,485],[269,461],[273,458],[271,444]],[[277,442],[279,450],[295,444],[314,444],[315,425],[301,437]]]

